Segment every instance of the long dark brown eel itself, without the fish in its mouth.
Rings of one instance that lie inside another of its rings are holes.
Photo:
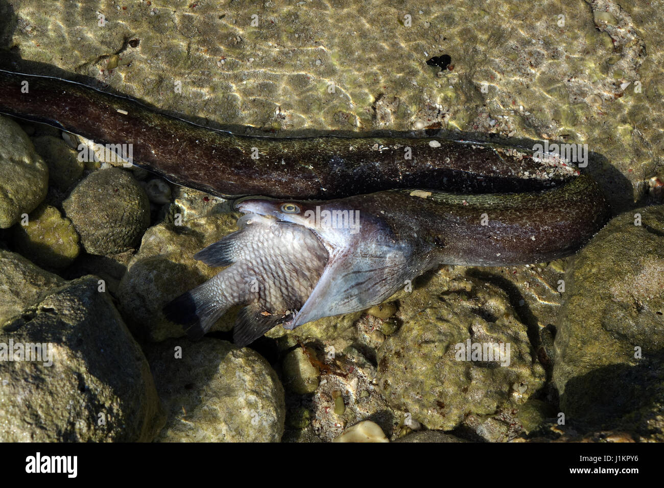
[[[311,229],[331,257],[327,277],[324,273],[311,297],[319,309],[309,310],[310,299],[309,309],[303,307],[308,315],[299,314],[293,326],[380,303],[404,279],[437,264],[505,266],[568,256],[609,217],[606,199],[590,177],[560,162],[539,163],[532,151],[492,143],[236,135],[75,82],[4,70],[0,112],[97,143],[131,143],[135,164],[187,187],[222,197],[278,199],[240,203],[246,213],[302,224],[279,208],[293,203],[302,211],[360,210],[357,234],[335,230],[326,242],[324,232]],[[334,249],[335,239],[343,249]],[[392,267],[389,276],[371,274],[366,258],[378,259],[380,253],[397,256],[393,264],[400,268]],[[335,282],[345,288],[326,292]],[[354,296],[344,301],[351,289]],[[323,305],[327,309],[321,311]]]

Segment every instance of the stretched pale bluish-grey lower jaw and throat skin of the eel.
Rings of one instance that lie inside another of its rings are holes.
[[[408,259],[385,248],[330,257],[323,275],[288,329],[322,317],[365,310],[382,303],[408,276]]]

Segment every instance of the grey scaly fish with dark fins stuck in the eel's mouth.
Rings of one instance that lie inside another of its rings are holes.
[[[327,264],[327,250],[303,226],[247,214],[238,227],[194,256],[209,266],[227,268],[163,308],[167,319],[184,325],[191,339],[202,337],[231,307],[244,305],[233,341],[240,346],[252,343],[292,319]]]

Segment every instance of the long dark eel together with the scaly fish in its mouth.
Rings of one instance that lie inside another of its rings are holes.
[[[238,201],[240,230],[197,254],[230,266],[165,307],[192,337],[232,305],[246,305],[234,331],[246,345],[280,322],[293,328],[381,303],[440,264],[562,258],[610,215],[590,177],[529,149],[440,137],[238,135],[59,78],[0,70],[0,84],[1,113],[131,144],[133,163],[173,183],[264,196]]]

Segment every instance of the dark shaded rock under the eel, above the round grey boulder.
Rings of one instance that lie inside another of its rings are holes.
[[[66,191],[83,175],[84,164],[78,161],[78,153],[60,137],[41,135],[33,138],[33,144],[48,165],[49,185]]]

